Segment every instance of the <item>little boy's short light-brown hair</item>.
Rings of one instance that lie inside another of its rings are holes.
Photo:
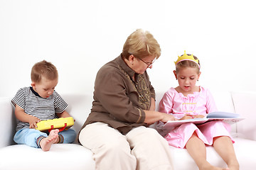
[[[42,77],[49,80],[58,79],[58,71],[50,62],[43,60],[33,65],[31,69],[31,81],[40,82]]]

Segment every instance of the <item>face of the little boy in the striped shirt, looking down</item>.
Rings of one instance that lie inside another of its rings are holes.
[[[58,79],[49,80],[45,77],[42,77],[40,82],[32,82],[31,86],[33,87],[33,90],[39,94],[39,96],[41,96],[42,98],[48,98],[50,95],[53,94],[53,91],[57,84]]]

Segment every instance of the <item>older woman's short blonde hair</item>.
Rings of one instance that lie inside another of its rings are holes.
[[[149,55],[154,55],[157,59],[161,55],[161,48],[149,31],[137,29],[129,35],[124,43],[122,56],[128,59],[129,55],[134,55],[141,59]]]

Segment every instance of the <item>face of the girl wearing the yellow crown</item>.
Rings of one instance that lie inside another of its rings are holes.
[[[201,72],[198,74],[197,68],[184,67],[180,68],[178,73],[174,70],[174,75],[178,79],[178,85],[181,93],[193,94],[196,91],[196,81],[199,79]]]

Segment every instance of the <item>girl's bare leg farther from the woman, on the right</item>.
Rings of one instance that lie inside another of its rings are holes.
[[[239,169],[238,159],[235,156],[235,150],[230,137],[215,137],[213,139],[213,147],[225,163],[228,164],[229,170]]]

